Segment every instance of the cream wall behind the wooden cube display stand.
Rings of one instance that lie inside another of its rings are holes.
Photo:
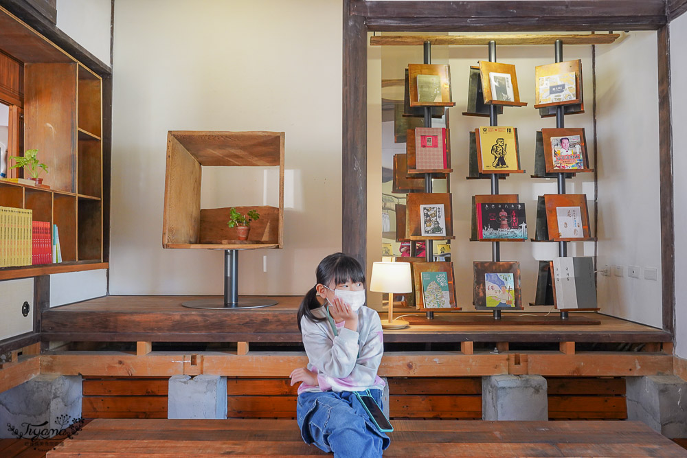
[[[314,284],[341,249],[342,21],[335,0],[115,2],[111,294],[223,291],[221,251],[162,249],[168,130],[285,132],[284,249],[240,252],[240,293]],[[203,203],[262,203],[264,175],[221,196],[214,173]]]

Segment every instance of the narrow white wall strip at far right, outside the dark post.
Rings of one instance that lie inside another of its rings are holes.
[[[687,100],[687,14],[679,16],[671,23],[671,95],[673,97],[673,171],[675,173],[674,212],[675,218],[675,352],[681,358],[687,358],[687,241],[684,228],[687,227],[687,215],[684,211],[684,196],[687,194],[687,183],[682,178],[682,171],[687,167],[687,156],[681,146],[682,135],[687,125],[687,113],[684,104]]]

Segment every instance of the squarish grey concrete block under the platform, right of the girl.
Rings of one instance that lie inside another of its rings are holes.
[[[542,376],[482,377],[482,420],[548,420]]]

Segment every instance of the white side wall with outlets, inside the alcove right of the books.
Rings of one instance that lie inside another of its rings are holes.
[[[662,327],[661,220],[656,32],[631,32],[598,47],[598,275],[602,312]],[[640,278],[628,276],[640,267]]]

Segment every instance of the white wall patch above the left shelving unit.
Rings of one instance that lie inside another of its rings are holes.
[[[107,65],[111,0],[57,0],[57,27]]]

